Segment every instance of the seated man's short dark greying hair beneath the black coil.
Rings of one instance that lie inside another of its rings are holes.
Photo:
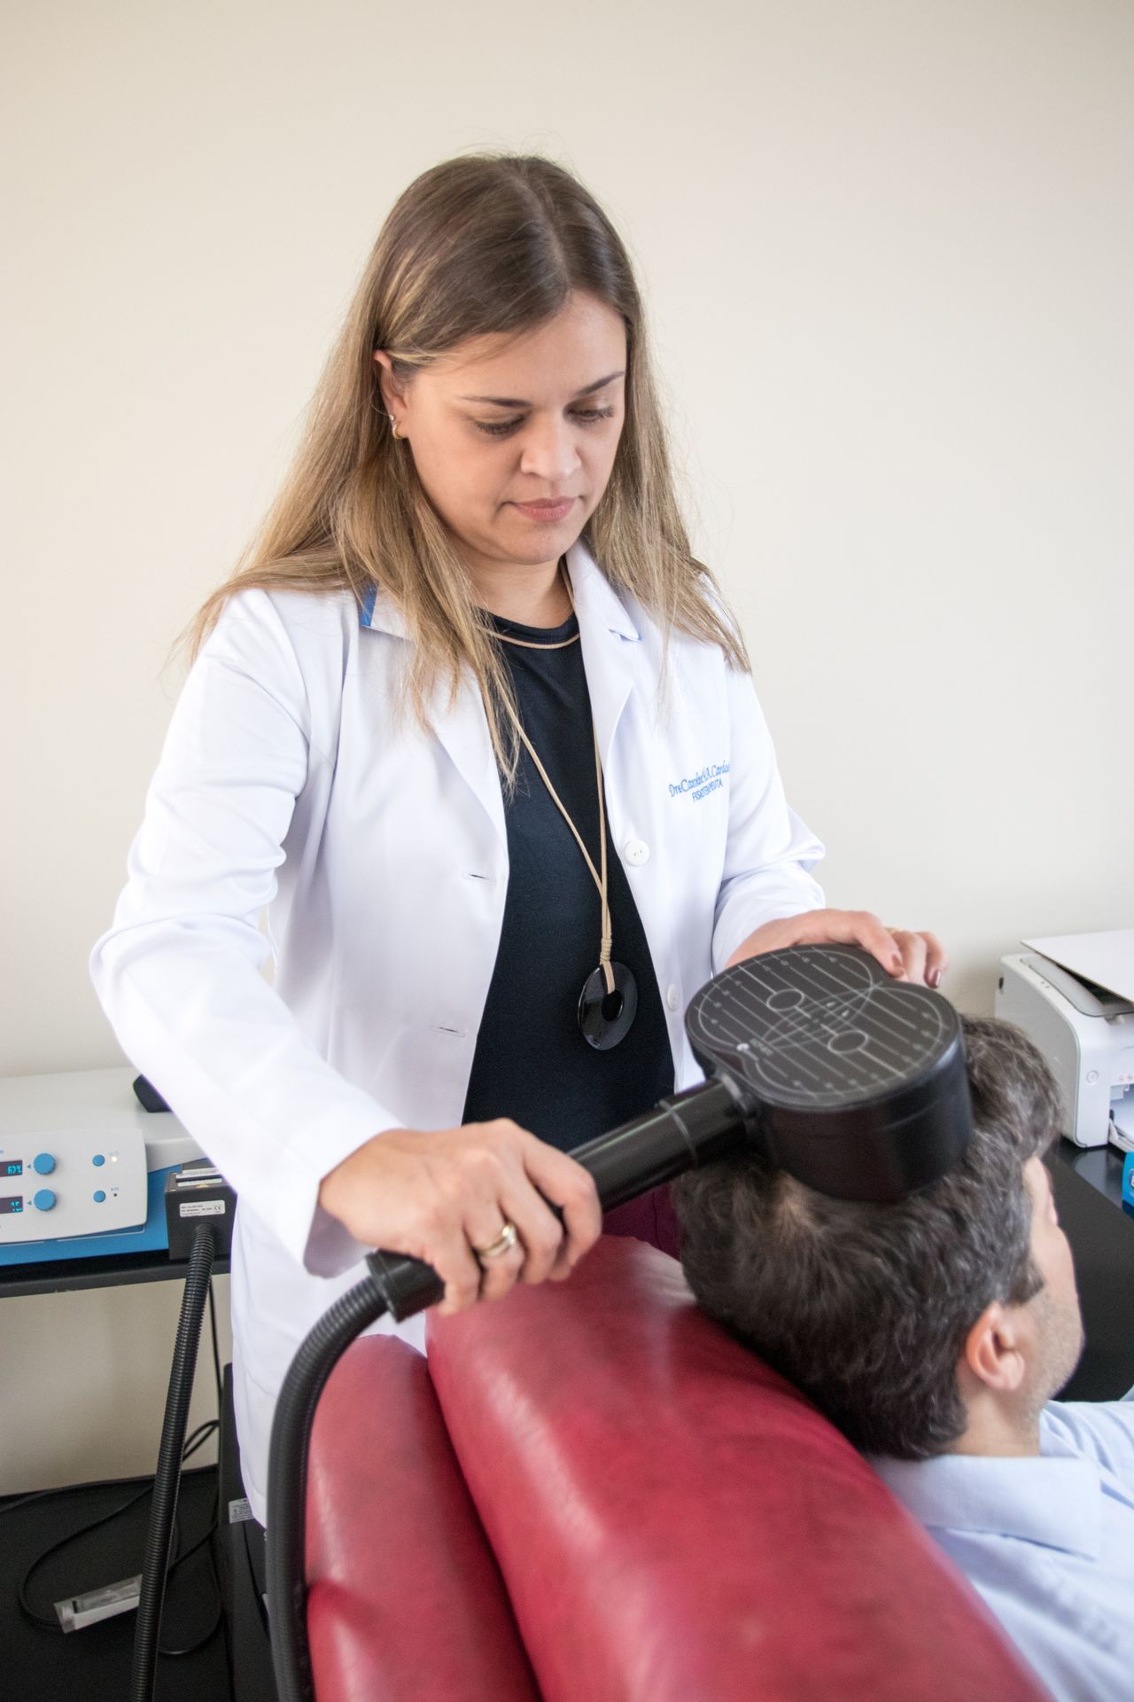
[[[673,1190],[700,1305],[869,1454],[927,1459],[955,1442],[969,1329],[993,1300],[1042,1287],[1023,1164],[1057,1128],[1056,1084],[1017,1028],[962,1026],[972,1144],[920,1193],[831,1200],[753,1152]]]

